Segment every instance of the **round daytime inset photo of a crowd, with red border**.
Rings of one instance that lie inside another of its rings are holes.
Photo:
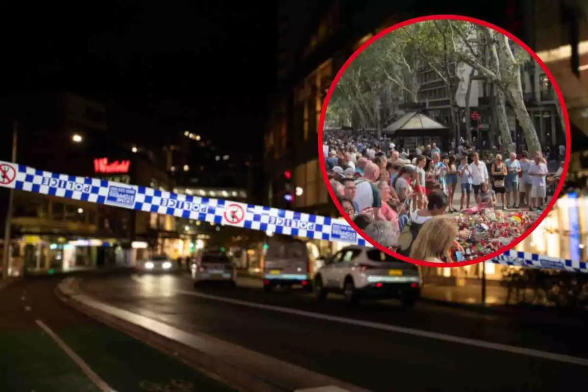
[[[424,266],[511,249],[553,206],[569,161],[549,69],[515,36],[462,16],[411,19],[366,42],[330,86],[320,127],[341,216]]]

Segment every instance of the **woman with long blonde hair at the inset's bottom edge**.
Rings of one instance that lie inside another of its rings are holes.
[[[458,227],[455,218],[447,215],[433,216],[419,230],[412,244],[410,258],[425,262],[443,263],[451,260],[451,249],[462,250],[457,243]]]

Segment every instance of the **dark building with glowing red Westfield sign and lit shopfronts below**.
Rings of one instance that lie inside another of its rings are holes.
[[[64,93],[20,96],[15,106],[18,163],[173,190],[163,155],[137,149],[132,136],[113,133],[105,105]],[[20,191],[14,197],[12,239],[12,264],[28,270],[132,264],[149,253],[173,255],[181,248],[171,216]]]

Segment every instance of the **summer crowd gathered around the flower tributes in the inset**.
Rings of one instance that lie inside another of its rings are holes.
[[[392,140],[383,141],[384,150],[373,135],[332,130],[323,139],[330,185],[345,213],[383,246],[433,262],[480,257],[520,236],[563,170],[562,161],[550,175],[541,152],[503,159],[463,140],[442,152],[436,143],[396,149]]]

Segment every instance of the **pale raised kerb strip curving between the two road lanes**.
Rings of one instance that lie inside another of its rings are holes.
[[[89,301],[102,304],[103,307],[113,308],[85,296],[79,287],[79,279],[75,277],[62,280],[56,287],[56,295],[66,304],[87,316],[181,359],[189,366],[215,374],[240,391],[293,392],[329,386],[338,388],[335,390],[341,392],[368,392],[366,389],[350,386],[328,376],[203,334],[196,336],[201,339],[203,344],[199,347],[189,346],[185,341],[181,341],[182,337],[180,336],[176,337],[173,334],[173,338],[164,336],[137,323],[108,313],[108,311],[97,309],[97,306],[91,306]],[[152,321],[159,323],[155,320]],[[188,333],[183,334],[188,335]],[[228,351],[234,355],[227,356]]]

